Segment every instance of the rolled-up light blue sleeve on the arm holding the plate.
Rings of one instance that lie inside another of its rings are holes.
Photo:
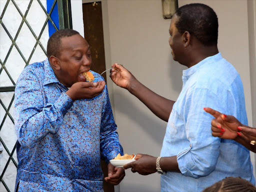
[[[196,88],[187,94],[183,114],[185,122],[185,134],[189,145],[185,146],[177,154],[177,162],[180,171],[194,178],[210,174],[216,166],[220,138],[211,135],[211,120],[213,116],[206,113],[203,107],[212,107],[223,111],[223,106],[207,88]],[[198,99],[200,98],[200,99]]]

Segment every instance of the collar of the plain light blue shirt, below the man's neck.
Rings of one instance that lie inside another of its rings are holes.
[[[200,62],[198,62],[197,64],[191,66],[188,69],[183,70],[183,76],[190,76],[192,75],[198,68],[200,68],[203,64],[205,63],[212,63],[212,62],[216,62],[218,60],[220,60],[222,58],[220,52],[218,52],[217,54],[213,55],[213,56],[208,56],[206,58],[204,58],[203,60],[201,60]]]

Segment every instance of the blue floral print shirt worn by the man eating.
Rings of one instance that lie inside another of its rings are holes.
[[[103,191],[100,157],[109,163],[123,154],[106,86],[75,101],[67,90],[47,59],[26,66],[17,80],[17,191]]]

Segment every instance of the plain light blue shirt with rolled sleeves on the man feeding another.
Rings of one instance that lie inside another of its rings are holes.
[[[211,107],[247,124],[243,86],[235,68],[221,54],[183,71],[183,87],[170,113],[161,156],[177,156],[181,173],[161,175],[161,191],[199,192],[226,176],[255,183],[248,149],[213,137]]]

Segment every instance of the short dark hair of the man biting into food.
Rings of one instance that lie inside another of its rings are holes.
[[[64,28],[52,33],[47,42],[47,57],[51,55],[58,57],[61,52],[61,38],[79,34],[76,30]]]

